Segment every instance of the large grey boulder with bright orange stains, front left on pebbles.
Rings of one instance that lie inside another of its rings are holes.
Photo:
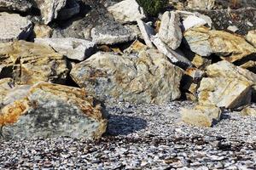
[[[34,139],[69,136],[99,138],[107,121],[101,105],[83,89],[40,82],[26,88],[26,95],[1,108],[0,125],[4,139]]]

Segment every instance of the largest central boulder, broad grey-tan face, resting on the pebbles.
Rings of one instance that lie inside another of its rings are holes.
[[[73,67],[73,80],[100,99],[166,103],[180,97],[183,71],[154,49],[137,56],[97,53]]]

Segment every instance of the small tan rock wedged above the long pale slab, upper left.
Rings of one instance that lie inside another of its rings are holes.
[[[52,36],[52,29],[46,25],[38,25],[34,26],[34,37],[35,38],[44,38]]]

